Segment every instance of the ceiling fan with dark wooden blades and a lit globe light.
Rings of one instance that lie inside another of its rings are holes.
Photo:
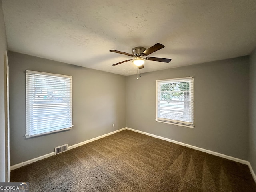
[[[143,64],[144,64],[145,60],[169,63],[171,61],[171,59],[159,58],[159,57],[143,58],[144,56],[148,56],[149,54],[151,54],[151,53],[153,53],[157,50],[160,50],[162,48],[164,48],[164,45],[162,45],[160,43],[157,43],[157,44],[153,45],[152,47],[148,48],[147,50],[144,47],[134,47],[134,48],[132,48],[132,54],[122,52],[122,51],[117,51],[117,50],[110,50],[110,52],[120,53],[120,54],[124,54],[124,55],[134,57],[134,59],[128,59],[128,60],[125,60],[125,61],[121,61],[119,63],[113,64],[113,66],[114,65],[119,65],[119,64],[127,62],[127,61],[132,61],[133,64],[138,66],[138,69],[143,69],[144,68]]]

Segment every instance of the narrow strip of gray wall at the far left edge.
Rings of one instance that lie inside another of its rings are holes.
[[[7,50],[2,1],[0,0],[0,182],[6,182],[6,137],[5,137],[5,70],[4,51]]]

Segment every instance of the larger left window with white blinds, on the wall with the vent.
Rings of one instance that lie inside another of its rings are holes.
[[[26,70],[26,137],[72,128],[72,76]]]

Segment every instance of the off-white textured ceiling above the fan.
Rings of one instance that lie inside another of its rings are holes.
[[[8,49],[132,75],[136,46],[165,48],[150,54],[150,72],[248,55],[256,47],[255,0],[2,0]]]

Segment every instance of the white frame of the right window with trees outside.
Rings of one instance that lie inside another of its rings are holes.
[[[160,118],[158,117],[159,113],[159,96],[160,93],[158,92],[160,90],[159,86],[161,82],[190,82],[190,119],[191,122],[186,122],[186,121],[179,121],[179,120],[174,120],[174,119],[167,119],[167,118]],[[184,77],[184,78],[172,78],[172,79],[163,79],[163,80],[156,80],[156,122],[162,122],[162,123],[167,123],[167,124],[174,124],[178,126],[184,126],[184,127],[189,127],[189,128],[194,128],[194,76],[190,77]]]

